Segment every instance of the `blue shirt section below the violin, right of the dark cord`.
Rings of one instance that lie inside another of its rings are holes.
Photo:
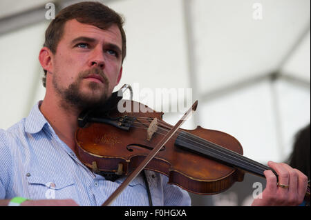
[[[164,206],[191,206],[189,193],[182,188],[168,184],[169,178],[163,175]]]

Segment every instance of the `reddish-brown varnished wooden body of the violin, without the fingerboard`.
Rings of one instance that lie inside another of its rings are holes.
[[[133,108],[142,105],[135,101],[126,100],[123,105],[131,106],[131,111],[120,113],[115,109],[109,112],[109,118],[116,122],[89,123],[84,128],[77,129],[77,157],[94,171],[128,175],[163,138],[164,131],[171,128],[171,125],[162,120],[162,112],[155,112],[144,105],[139,108],[144,109],[144,112],[135,112]],[[130,119],[131,126],[120,129],[119,126],[126,117]],[[148,128],[155,119],[158,121],[158,130],[150,137]],[[187,137],[184,135],[186,133]],[[180,129],[145,169],[167,175],[170,184],[196,194],[216,194],[227,190],[235,181],[243,181],[244,170],[182,148],[184,143],[187,145],[187,140],[192,139],[190,137],[195,137],[195,143],[204,139],[243,154],[241,144],[231,135],[198,126],[194,130]]]

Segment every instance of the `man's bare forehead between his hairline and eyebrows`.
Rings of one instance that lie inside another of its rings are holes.
[[[64,26],[63,37],[68,37],[69,39],[74,39],[79,35],[97,35],[98,37],[108,37],[113,43],[117,43],[119,46],[122,45],[121,32],[117,25],[112,25],[111,27],[103,30],[97,26],[93,26],[87,23],[80,23],[76,19],[71,19],[66,21]],[[93,36],[94,37],[94,36]]]

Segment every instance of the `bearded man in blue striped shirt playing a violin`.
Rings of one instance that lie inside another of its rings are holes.
[[[2,206],[100,206],[124,179],[109,181],[77,159],[77,117],[110,97],[126,55],[122,17],[101,3],[64,8],[46,30],[39,61],[46,94],[26,119],[0,130]],[[307,177],[285,163],[268,163],[267,184],[254,206],[297,206]],[[189,194],[147,172],[153,206],[189,206]],[[134,181],[113,206],[149,206],[146,181]],[[18,198],[17,198],[18,197]],[[12,199],[14,198],[14,199]]]

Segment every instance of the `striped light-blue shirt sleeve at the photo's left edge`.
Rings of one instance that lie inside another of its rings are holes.
[[[6,131],[0,129],[0,199],[6,199],[6,190],[10,182],[12,172],[12,159],[10,149],[6,141]]]

